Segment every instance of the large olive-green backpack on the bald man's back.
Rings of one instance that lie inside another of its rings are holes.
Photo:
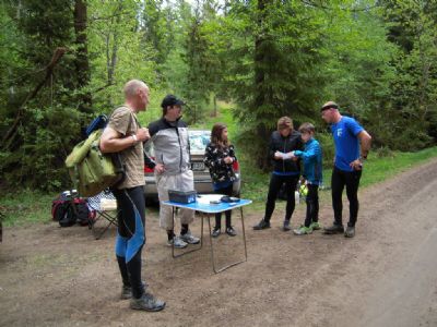
[[[125,179],[119,154],[103,154],[98,146],[103,130],[96,130],[74,146],[66,159],[74,187],[81,196],[94,196]]]

